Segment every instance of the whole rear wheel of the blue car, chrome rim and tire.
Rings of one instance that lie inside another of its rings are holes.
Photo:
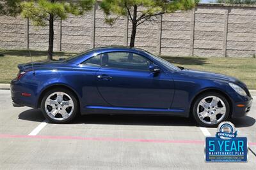
[[[70,90],[52,89],[45,93],[41,110],[50,122],[68,123],[77,115],[77,99]]]

